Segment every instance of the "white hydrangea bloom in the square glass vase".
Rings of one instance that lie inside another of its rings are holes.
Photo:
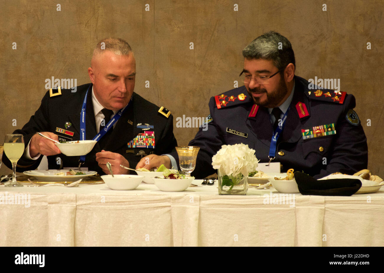
[[[243,143],[223,145],[212,157],[212,166],[220,171],[220,175],[237,176],[241,173],[248,176],[248,173],[256,170],[257,163],[255,150]]]

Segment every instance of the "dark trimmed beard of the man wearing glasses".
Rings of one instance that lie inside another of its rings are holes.
[[[288,89],[285,85],[285,82],[281,78],[280,78],[279,84],[277,86],[277,89],[272,90],[270,92],[267,92],[267,90],[264,88],[254,88],[254,89],[248,88],[247,91],[248,91],[248,94],[250,95],[250,97],[255,102],[255,104],[263,106],[263,107],[267,107],[267,108],[274,108],[274,107],[279,106],[281,100],[283,100],[285,95],[288,93]],[[254,93],[265,92],[266,100],[262,101],[258,97],[256,97],[256,98],[253,97],[252,92],[254,92]]]

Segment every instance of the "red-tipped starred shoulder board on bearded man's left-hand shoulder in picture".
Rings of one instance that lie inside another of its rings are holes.
[[[252,99],[249,97],[247,89],[245,89],[244,86],[229,90],[225,93],[215,96],[215,104],[217,109],[223,109],[225,107],[245,104],[251,101]]]

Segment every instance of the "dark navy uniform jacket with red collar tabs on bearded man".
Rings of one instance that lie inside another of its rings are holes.
[[[354,96],[309,89],[309,84],[295,76],[293,99],[272,162],[280,162],[282,172],[293,168],[315,178],[366,169],[367,139],[352,110]],[[211,97],[209,110],[207,130],[200,127],[189,143],[200,147],[193,176],[204,178],[217,171],[212,168],[212,156],[222,145],[248,144],[260,162],[269,161],[273,135],[270,113],[254,104],[245,86]],[[177,153],[172,156],[179,161]]]

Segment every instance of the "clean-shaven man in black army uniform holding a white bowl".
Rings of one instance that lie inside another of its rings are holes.
[[[116,174],[127,173],[122,164],[135,168],[142,156],[170,153],[177,146],[173,134],[173,117],[164,107],[134,93],[136,62],[129,44],[121,39],[104,39],[98,43],[88,68],[91,84],[71,89],[51,89],[41,101],[40,108],[21,130],[25,152],[17,163],[17,171],[36,169],[43,155],[48,157],[50,169],[82,167],[107,173],[109,161]],[[86,101],[84,98],[87,94]],[[83,118],[84,114],[84,118]],[[116,123],[107,126],[113,119]],[[93,150],[81,160],[79,156],[61,154],[53,141],[91,140],[99,136]],[[12,166],[3,156],[3,162]]]

